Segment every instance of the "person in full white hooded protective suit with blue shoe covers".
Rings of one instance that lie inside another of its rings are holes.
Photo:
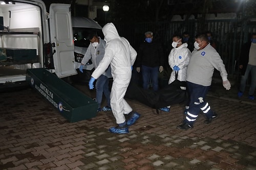
[[[123,98],[132,78],[132,68],[137,52],[125,38],[119,36],[113,23],[107,23],[102,28],[102,32],[106,41],[105,55],[93,71],[89,87],[90,89],[94,88],[93,82],[110,64],[113,77],[110,94],[111,108],[118,126],[110,128],[109,131],[112,133],[129,133],[128,127],[136,122],[140,114],[132,112],[133,109]],[[130,118],[126,121],[124,115]]]

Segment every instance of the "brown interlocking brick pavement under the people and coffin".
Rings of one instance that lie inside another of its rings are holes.
[[[1,93],[0,169],[256,169],[255,102],[211,94],[219,118],[187,131],[183,104],[158,115],[127,100],[142,116],[119,135],[110,111],[69,123],[33,89]]]

